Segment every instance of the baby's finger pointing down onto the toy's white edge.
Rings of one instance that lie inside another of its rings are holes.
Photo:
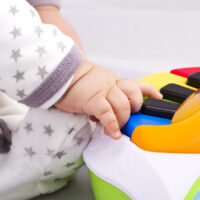
[[[111,105],[105,99],[105,97],[93,97],[88,102],[86,112],[88,114],[94,115],[97,119],[100,120],[104,126],[104,130],[106,130],[106,134],[110,135],[113,139],[118,139],[121,137],[117,118]]]

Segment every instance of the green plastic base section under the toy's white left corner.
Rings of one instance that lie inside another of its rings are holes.
[[[89,176],[96,200],[131,200],[124,192],[102,180],[90,170]]]

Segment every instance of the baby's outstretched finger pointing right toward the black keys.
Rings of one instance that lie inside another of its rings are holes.
[[[143,83],[143,82],[138,82],[138,84],[142,90],[143,96],[148,96],[148,97],[157,98],[157,99],[162,98],[162,94],[160,94],[160,92],[158,92],[156,88],[154,88],[152,85],[148,83]]]

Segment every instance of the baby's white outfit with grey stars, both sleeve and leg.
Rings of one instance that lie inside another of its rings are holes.
[[[25,0],[0,1],[0,25],[0,200],[30,199],[66,185],[82,164],[88,116],[53,107],[82,54]]]

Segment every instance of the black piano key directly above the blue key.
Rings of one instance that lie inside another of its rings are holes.
[[[141,113],[172,119],[179,106],[178,103],[150,98],[143,103]]]

